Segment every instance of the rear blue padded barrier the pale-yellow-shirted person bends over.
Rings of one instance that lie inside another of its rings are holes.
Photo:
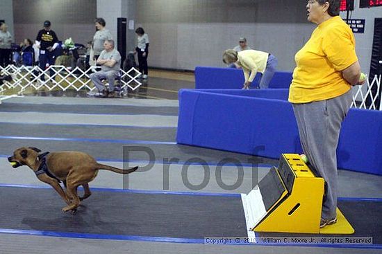
[[[197,66],[194,71],[196,89],[242,89],[244,74],[242,69]],[[257,73],[251,87],[258,87],[261,74]],[[288,89],[292,73],[277,71],[269,82],[269,88]]]

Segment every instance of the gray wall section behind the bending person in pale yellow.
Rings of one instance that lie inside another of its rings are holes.
[[[299,0],[140,0],[137,10],[150,37],[149,66],[170,69],[224,66],[222,52],[247,37],[279,58],[279,70],[291,71],[314,28]]]

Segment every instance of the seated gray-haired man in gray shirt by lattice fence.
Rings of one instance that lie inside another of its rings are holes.
[[[114,48],[113,39],[108,39],[103,43],[104,50],[99,55],[97,64],[101,65],[101,71],[90,74],[90,80],[97,87],[101,93],[102,98],[113,98],[114,93],[114,81],[119,75],[119,66],[121,65],[121,55]],[[108,80],[109,87],[103,85],[101,80]]]

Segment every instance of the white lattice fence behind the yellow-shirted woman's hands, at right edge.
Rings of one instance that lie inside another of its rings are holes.
[[[370,83],[369,78],[366,77],[365,84],[363,84],[363,86],[356,87],[356,91],[353,94],[353,102],[351,103],[351,107],[356,107],[358,109],[382,110],[382,100],[380,105],[377,105],[380,89],[381,75],[374,75],[372,83]],[[367,105],[367,102],[369,102],[369,105]]]

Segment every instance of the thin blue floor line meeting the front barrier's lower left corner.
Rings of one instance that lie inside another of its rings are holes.
[[[52,140],[52,141],[122,143],[122,144],[144,144],[144,145],[176,145],[177,144],[176,142],[162,142],[162,141],[150,141],[150,140],[99,139],[99,138],[51,138],[51,137],[27,137],[27,136],[0,136],[0,139]]]

